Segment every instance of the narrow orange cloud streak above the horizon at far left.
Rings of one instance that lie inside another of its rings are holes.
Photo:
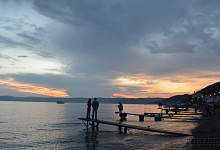
[[[10,89],[18,92],[33,93],[51,97],[69,97],[66,90],[47,88],[35,84],[28,84],[15,81],[13,78],[3,80],[0,79],[0,86],[5,89]]]

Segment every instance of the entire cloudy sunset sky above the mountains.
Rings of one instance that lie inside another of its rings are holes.
[[[219,0],[0,0],[0,95],[154,98],[220,80]]]

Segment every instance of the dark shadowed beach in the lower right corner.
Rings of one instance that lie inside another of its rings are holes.
[[[220,109],[216,115],[202,116],[198,126],[192,130],[193,138],[189,142],[192,149],[220,149]]]

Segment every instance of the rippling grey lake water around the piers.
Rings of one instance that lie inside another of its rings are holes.
[[[117,104],[100,103],[98,119],[119,122]],[[160,112],[157,105],[124,104],[124,111],[143,114]],[[118,127],[99,125],[99,131],[87,131],[78,117],[86,116],[85,103],[56,104],[51,102],[0,101],[1,149],[57,149],[57,150],[146,150],[187,149],[189,137],[175,137],[130,129],[120,134]],[[195,122],[154,121],[145,117],[128,116],[126,124],[150,126],[190,134]]]

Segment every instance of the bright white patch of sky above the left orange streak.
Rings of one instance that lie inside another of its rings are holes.
[[[24,50],[2,50],[0,74],[64,74],[64,64]]]

